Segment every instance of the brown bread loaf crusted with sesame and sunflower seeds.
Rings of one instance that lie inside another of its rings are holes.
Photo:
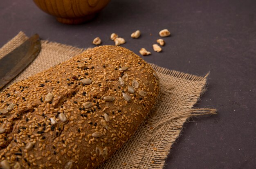
[[[94,169],[134,133],[158,77],[139,56],[99,46],[0,93],[2,169]]]

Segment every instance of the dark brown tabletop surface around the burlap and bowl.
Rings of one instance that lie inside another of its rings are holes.
[[[253,169],[256,166],[256,1],[255,0],[112,0],[83,25],[58,23],[32,0],[0,1],[0,46],[19,31],[28,36],[78,47],[93,47],[95,37],[113,44],[115,32],[126,47],[152,55],[146,61],[194,75],[210,71],[208,91],[199,108],[218,115],[191,120],[173,145],[166,169]],[[162,53],[152,44],[169,29]],[[142,33],[137,40],[133,31]],[[150,36],[152,33],[152,36]]]

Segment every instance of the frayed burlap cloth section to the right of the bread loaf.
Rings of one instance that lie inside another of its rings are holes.
[[[117,150],[112,158],[98,167],[99,169],[162,169],[183,124],[192,116],[216,114],[216,109],[193,108],[200,94],[206,90],[209,73],[199,77],[168,70],[155,64],[150,65],[160,78],[161,92],[158,101],[130,140]],[[191,95],[186,99],[186,103],[175,103],[175,100],[184,96],[180,92],[188,88],[191,88]]]

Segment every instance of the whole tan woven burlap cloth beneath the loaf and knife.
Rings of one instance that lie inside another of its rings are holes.
[[[0,58],[28,37],[20,32],[0,48]],[[85,49],[41,41],[38,57],[10,84],[63,62]],[[162,169],[171,145],[182,125],[191,117],[215,114],[215,109],[195,109],[193,105],[205,91],[206,76],[198,77],[150,64],[160,79],[159,99],[130,140],[99,169]],[[8,85],[8,86],[9,86]]]

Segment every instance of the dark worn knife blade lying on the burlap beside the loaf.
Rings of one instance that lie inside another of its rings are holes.
[[[20,74],[41,50],[38,34],[31,36],[20,46],[0,59],[0,90]]]

